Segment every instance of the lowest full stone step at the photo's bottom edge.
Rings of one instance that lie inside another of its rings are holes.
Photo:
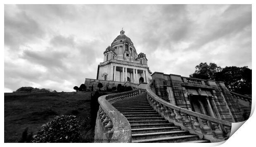
[[[173,137],[164,137],[164,138],[150,138],[150,139],[140,139],[140,140],[132,140],[135,143],[142,142],[186,142],[186,141],[194,141],[197,140],[197,135],[184,135],[184,136],[173,136]]]

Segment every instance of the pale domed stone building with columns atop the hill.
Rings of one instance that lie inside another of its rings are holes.
[[[144,53],[137,54],[133,42],[121,30],[104,51],[104,61],[98,65],[97,80],[148,83],[152,72]]]

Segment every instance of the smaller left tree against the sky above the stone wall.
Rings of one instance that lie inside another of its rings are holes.
[[[209,65],[205,63],[200,63],[195,67],[196,71],[190,74],[191,78],[200,78],[204,80],[214,80],[216,72],[221,71],[221,67],[218,67],[215,63],[210,63]]]

